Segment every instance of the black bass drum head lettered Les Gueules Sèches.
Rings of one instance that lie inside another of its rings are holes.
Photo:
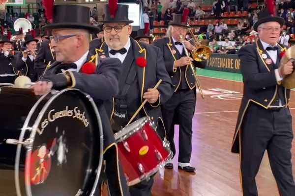
[[[30,196],[89,196],[102,165],[99,114],[79,90],[53,96],[32,127],[25,185]]]

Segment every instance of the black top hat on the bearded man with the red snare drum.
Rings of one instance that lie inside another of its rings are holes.
[[[105,5],[105,19],[100,21],[102,23],[133,23],[128,19],[128,5],[123,4],[110,4]],[[118,9],[116,9],[116,5]]]

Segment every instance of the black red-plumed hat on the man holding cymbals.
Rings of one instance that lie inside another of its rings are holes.
[[[267,8],[261,10],[258,13],[259,20],[253,25],[253,29],[257,31],[259,25],[267,22],[277,22],[281,27],[285,24],[285,20],[282,17],[275,16],[275,6],[267,4]]]

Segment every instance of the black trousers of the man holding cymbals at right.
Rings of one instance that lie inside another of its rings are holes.
[[[288,108],[265,109],[251,104],[241,125],[241,180],[243,196],[258,196],[255,176],[265,150],[280,196],[294,196],[291,147],[292,116]]]

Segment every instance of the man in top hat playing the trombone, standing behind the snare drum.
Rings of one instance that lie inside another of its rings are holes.
[[[186,9],[185,9],[186,10]],[[178,169],[186,172],[194,172],[195,167],[190,164],[192,151],[192,119],[196,104],[196,79],[189,67],[190,61],[194,66],[205,68],[206,62],[197,62],[185,55],[183,47],[192,51],[195,47],[189,41],[181,43],[180,35],[184,38],[188,26],[187,14],[183,16],[175,14],[172,23],[169,24],[167,37],[155,41],[154,46],[161,49],[165,66],[174,84],[174,95],[163,106],[163,120],[167,130],[168,141],[174,155],[175,119],[179,121],[179,155]],[[172,169],[170,161],[165,165],[166,169]]]

